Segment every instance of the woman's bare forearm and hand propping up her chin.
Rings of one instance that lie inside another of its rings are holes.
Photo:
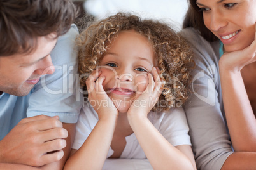
[[[255,55],[256,34],[250,46],[241,51],[225,53],[219,62],[225,116],[236,152],[256,152],[255,115],[241,74],[243,67],[256,61]],[[246,74],[250,74],[250,71]]]

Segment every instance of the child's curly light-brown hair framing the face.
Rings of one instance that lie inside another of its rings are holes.
[[[157,58],[160,77],[164,79],[164,90],[153,111],[169,110],[181,106],[188,98],[190,70],[194,67],[192,49],[187,41],[176,34],[164,23],[153,20],[141,20],[136,15],[117,13],[90,25],[78,37],[78,58],[80,74],[90,74],[96,69],[101,56],[111,46],[118,32],[133,30],[145,36],[152,44]],[[87,77],[80,79],[81,87],[86,90]]]

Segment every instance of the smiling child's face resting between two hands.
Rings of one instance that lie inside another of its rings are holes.
[[[145,91],[147,74],[155,63],[151,44],[137,32],[123,31],[112,40],[101,58],[100,70],[106,77],[103,88],[119,112],[127,112],[131,101]]]

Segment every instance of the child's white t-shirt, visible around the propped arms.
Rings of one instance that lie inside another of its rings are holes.
[[[190,136],[188,136],[188,125],[183,108],[174,108],[168,112],[150,112],[148,119],[152,122],[153,126],[166,138],[173,146],[178,145],[191,145]],[[94,108],[85,103],[78,117],[76,124],[75,141],[73,149],[78,150],[83,142],[88,138],[94,126],[98,121],[98,115]],[[134,133],[126,136],[126,146],[120,158],[123,159],[146,159],[139,142]],[[157,146],[156,146],[157,147]],[[110,148],[107,157],[113,154]]]

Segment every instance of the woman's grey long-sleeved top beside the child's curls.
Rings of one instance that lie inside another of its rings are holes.
[[[194,50],[192,96],[185,104],[198,169],[221,169],[232,154],[218,74],[220,41],[208,42],[195,29],[183,29]]]

